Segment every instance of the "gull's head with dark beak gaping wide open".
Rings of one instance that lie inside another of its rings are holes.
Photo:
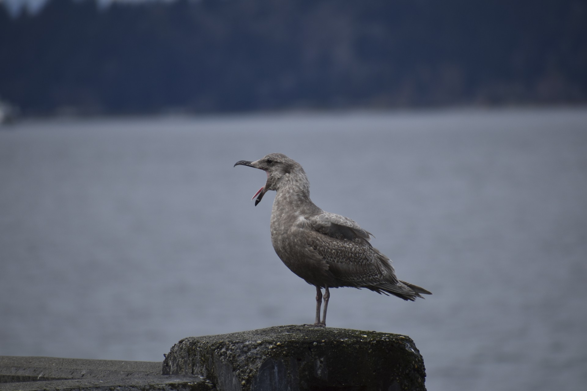
[[[255,206],[261,202],[261,199],[266,192],[269,190],[276,191],[279,188],[279,183],[282,179],[286,178],[293,172],[301,172],[305,177],[302,166],[299,165],[298,162],[286,157],[284,154],[269,154],[254,162],[241,160],[234,164],[234,166],[238,165],[262,169],[267,173],[267,182],[265,183],[265,186],[259,189],[259,191],[253,196],[253,198],[257,197],[255,200]]]

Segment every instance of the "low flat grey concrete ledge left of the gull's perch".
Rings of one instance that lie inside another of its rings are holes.
[[[0,356],[0,391],[209,391],[199,376],[163,376],[160,362]]]

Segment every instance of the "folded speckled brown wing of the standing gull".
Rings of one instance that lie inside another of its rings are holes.
[[[396,283],[389,258],[371,246],[372,235],[356,222],[328,212],[309,217],[308,222],[312,227],[306,235],[308,246],[328,263],[334,277],[350,286]]]

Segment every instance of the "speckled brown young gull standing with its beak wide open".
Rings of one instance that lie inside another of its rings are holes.
[[[235,164],[262,169],[267,182],[258,192],[277,192],[271,212],[271,242],[289,270],[316,287],[316,326],[326,325],[329,288],[367,288],[415,300],[430,294],[397,279],[389,258],[370,243],[371,233],[348,217],[324,212],[310,199],[310,183],[301,165],[283,154]],[[320,319],[321,288],[325,288]]]

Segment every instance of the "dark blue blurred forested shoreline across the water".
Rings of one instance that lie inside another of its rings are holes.
[[[587,3],[177,0],[0,6],[24,114],[587,101]]]

